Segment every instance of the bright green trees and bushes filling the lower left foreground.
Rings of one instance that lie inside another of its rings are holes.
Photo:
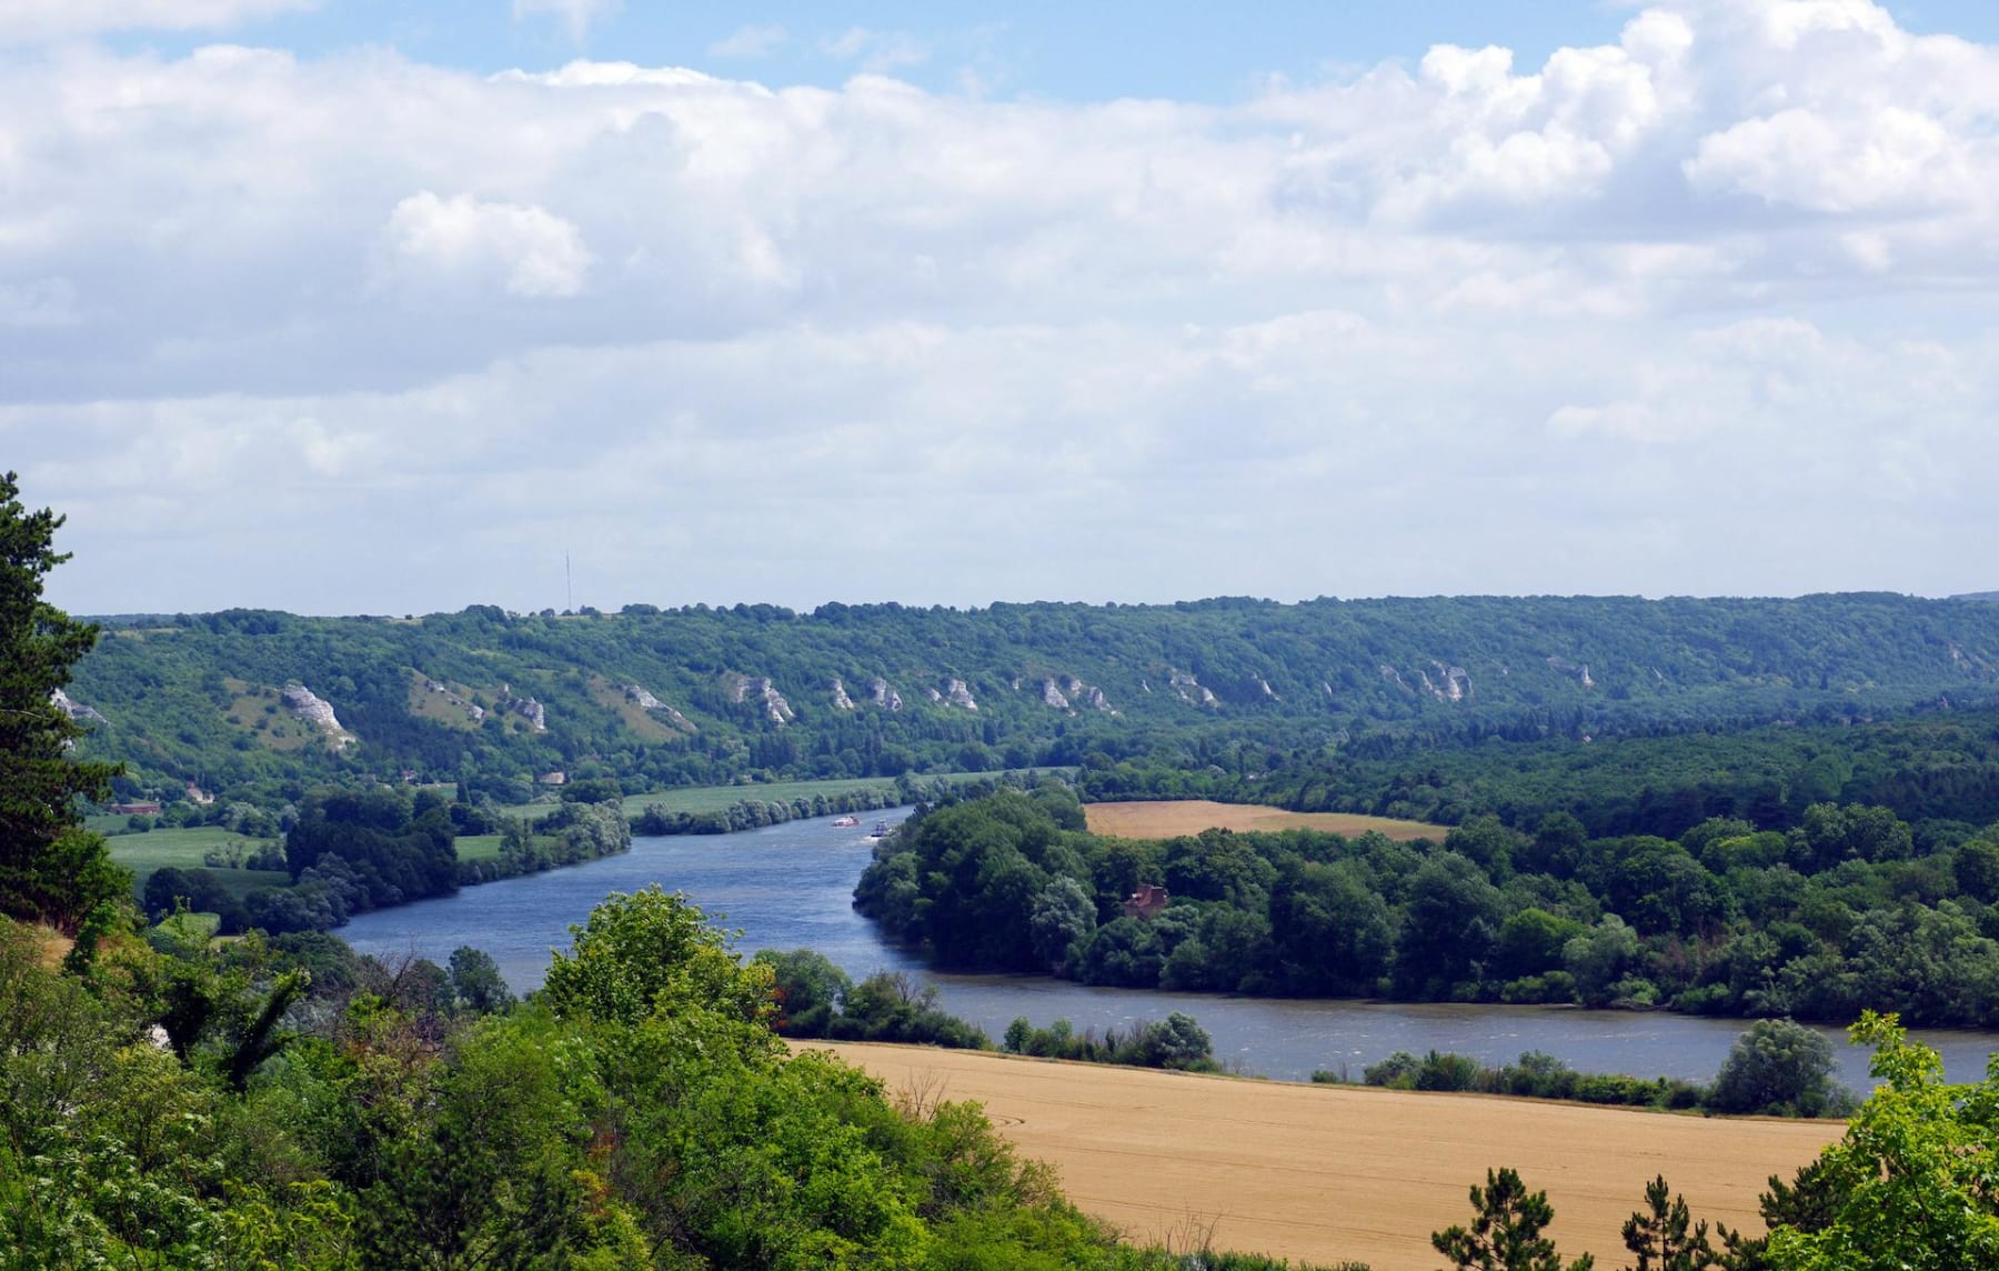
[[[976,1105],[790,1057],[768,969],[658,889],[600,905],[530,1003],[470,949],[442,969],[324,935],[170,925],[82,961],[46,969],[0,919],[8,1271],[1185,1267]]]

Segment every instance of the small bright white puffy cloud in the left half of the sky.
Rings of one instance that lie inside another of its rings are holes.
[[[398,266],[420,276],[498,276],[512,296],[576,296],[592,260],[560,216],[470,194],[412,194],[390,212],[384,236]]]

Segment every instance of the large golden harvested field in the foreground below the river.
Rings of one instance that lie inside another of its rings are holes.
[[[820,1047],[824,1043],[802,1043]],[[1565,1257],[1627,1261],[1619,1227],[1663,1173],[1695,1217],[1761,1231],[1755,1199],[1843,1133],[1837,1121],[1665,1113],[1199,1077],[904,1045],[826,1045],[892,1093],[976,1099],[1085,1211],[1133,1239],[1213,1219],[1217,1249],[1433,1271],[1429,1233],[1511,1165],[1555,1207]]]

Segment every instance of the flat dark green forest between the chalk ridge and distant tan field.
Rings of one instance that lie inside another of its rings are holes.
[[[1349,745],[1265,755],[1231,771],[1127,761],[1085,769],[1085,797],[1219,799],[1457,823],[1495,813],[1531,827],[1563,811],[1591,837],[1679,837],[1709,817],[1765,829],[1813,803],[1871,803],[1907,821],[1999,819],[1999,711],[1925,709],[1903,719],[1797,721],[1743,731],[1603,735],[1469,747]]]

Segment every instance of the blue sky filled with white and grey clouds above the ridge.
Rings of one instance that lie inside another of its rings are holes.
[[[1999,6],[0,0],[80,614],[1999,588]]]

